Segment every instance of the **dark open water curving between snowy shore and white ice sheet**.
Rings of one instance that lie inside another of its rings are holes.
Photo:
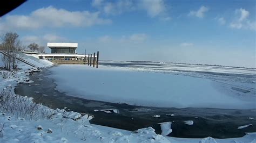
[[[250,126],[238,130],[238,126],[253,124],[256,120],[248,120],[248,117],[256,119],[256,109],[252,110],[225,110],[207,108],[154,108],[145,106],[133,106],[128,104],[107,103],[87,100],[66,95],[55,90],[53,80],[45,77],[50,71],[43,69],[40,73],[30,76],[35,83],[18,84],[16,94],[33,97],[37,103],[50,108],[68,109],[80,113],[90,113],[95,116],[92,124],[121,128],[134,131],[143,127],[153,127],[156,133],[161,133],[157,123],[173,121],[171,137],[180,138],[234,138],[242,137],[245,132],[256,132],[256,126]],[[40,93],[36,93],[39,91]],[[119,113],[93,112],[95,109],[118,109]],[[166,114],[174,114],[170,116]],[[160,115],[154,118],[153,115]],[[186,125],[184,120],[193,120],[194,124]]]

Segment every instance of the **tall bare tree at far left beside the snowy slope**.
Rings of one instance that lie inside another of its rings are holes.
[[[21,49],[21,41],[18,39],[19,35],[15,32],[7,32],[2,35],[2,50],[5,54],[2,56],[4,68],[6,70],[16,69],[18,67],[18,49]]]

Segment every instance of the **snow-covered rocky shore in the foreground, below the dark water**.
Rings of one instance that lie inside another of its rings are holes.
[[[7,80],[1,76],[0,87],[6,87],[8,84],[14,86],[17,84],[17,77],[25,77],[23,73],[18,72],[16,74],[14,77],[8,78]],[[53,116],[52,119],[38,118],[32,120],[8,115],[8,113],[1,113],[0,120],[3,124],[3,135],[2,138],[0,138],[1,142],[232,142],[234,140],[251,142],[255,141],[256,136],[255,133],[251,133],[242,138],[232,139],[214,140],[210,137],[204,139],[172,138],[156,134],[152,127],[130,132],[116,128],[92,125],[89,121],[81,122],[69,118],[64,118],[63,120],[62,117],[64,114],[61,112],[65,112],[65,110],[57,109],[51,111],[58,112],[56,117]],[[68,113],[68,115],[72,114],[74,117],[80,117],[75,112],[70,112],[71,114],[69,112],[66,113]],[[88,116],[85,117],[88,118]]]

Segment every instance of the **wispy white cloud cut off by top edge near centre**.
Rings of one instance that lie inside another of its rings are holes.
[[[106,15],[119,15],[124,12],[134,10],[144,10],[150,17],[161,17],[170,20],[167,16],[167,9],[164,0],[124,0],[124,1],[105,1],[93,0],[92,6],[106,13]]]

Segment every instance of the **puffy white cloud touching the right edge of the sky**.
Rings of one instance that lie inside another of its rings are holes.
[[[247,29],[256,31],[256,21],[252,22],[248,19],[250,12],[245,9],[236,9],[235,10],[235,19],[230,23],[231,28],[235,29]]]

